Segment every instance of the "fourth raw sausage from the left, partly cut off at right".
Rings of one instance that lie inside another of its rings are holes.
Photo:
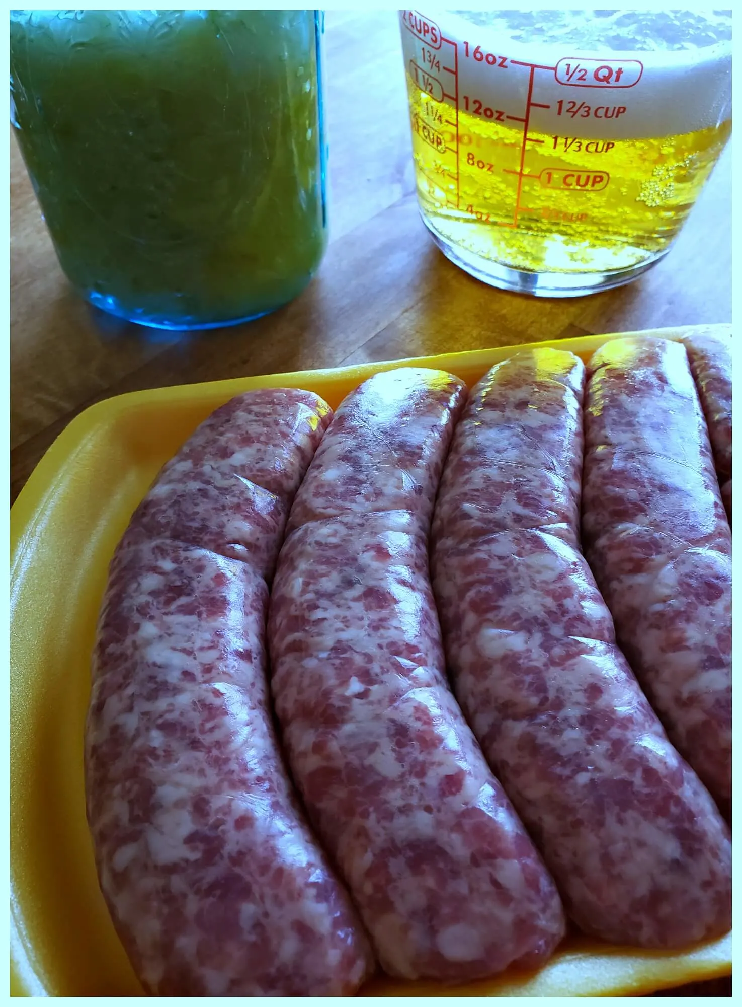
[[[589,365],[585,555],[671,740],[731,800],[731,532],[685,347],[614,339]]]

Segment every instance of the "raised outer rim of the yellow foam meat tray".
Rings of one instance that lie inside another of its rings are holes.
[[[428,367],[438,370],[450,371],[455,374],[456,369],[463,367],[463,370],[477,369],[480,366],[491,367],[508,355],[525,349],[555,348],[574,352],[584,357],[603,345],[616,338],[642,337],[642,338],[667,338],[677,341],[678,339],[692,335],[694,333],[708,332],[710,329],[728,331],[731,334],[732,325],[728,322],[702,323],[696,325],[674,325],[653,329],[637,329],[624,332],[608,332],[605,334],[587,334],[584,336],[574,336],[568,338],[544,339],[539,342],[514,343],[507,346],[494,346],[483,349],[458,350],[446,353],[438,353],[428,356],[403,357],[398,359],[373,361],[364,364],[351,364],[337,368],[320,368],[314,370],[294,371],[276,373],[269,375],[243,376],[239,378],[227,378],[218,381],[197,382],[182,385],[171,385],[166,387],[143,389],[135,392],[127,392],[122,395],[112,396],[94,403],[91,406],[81,410],[57,435],[54,441],[46,449],[37,465],[29,475],[25,484],[21,488],[18,496],[10,509],[10,553],[11,553],[11,579],[9,590],[9,614],[10,614],[10,692],[11,692],[11,726],[12,726],[12,705],[13,694],[15,692],[14,680],[17,684],[17,676],[14,675],[12,650],[13,650],[13,613],[19,593],[23,583],[24,557],[30,548],[33,540],[33,531],[42,523],[43,517],[48,510],[49,502],[53,496],[56,479],[65,465],[73,463],[77,449],[83,444],[87,435],[101,426],[106,426],[114,422],[117,418],[126,413],[137,410],[144,405],[165,406],[178,402],[193,402],[213,400],[221,398],[226,402],[233,395],[253,388],[263,387],[293,387],[311,388],[316,382],[354,382],[360,384],[366,378],[381,371],[389,371],[400,367]],[[31,534],[29,534],[31,533]],[[12,732],[9,739],[10,756],[13,755]],[[12,789],[10,794],[12,809]],[[11,836],[12,836],[11,826]],[[43,968],[40,963],[35,962],[33,946],[28,939],[24,940],[23,912],[16,897],[13,883],[12,855],[10,862],[10,995],[11,996],[48,996],[43,982]],[[612,948],[612,946],[609,946]],[[607,950],[607,948],[606,948]],[[699,952],[705,959],[706,975],[701,978],[694,978],[693,982],[701,982],[731,975],[732,971],[732,931],[725,937],[714,942],[696,946],[688,954],[693,955]],[[704,953],[710,952],[711,957]],[[672,989],[677,985],[673,980],[669,986],[654,987],[655,989]],[[365,995],[365,994],[364,994]],[[367,994],[376,995],[373,992]],[[395,994],[398,995],[398,994]],[[412,996],[428,994],[410,994]],[[447,995],[441,993],[438,995]],[[507,994],[506,994],[507,995]],[[614,995],[614,994],[603,994]],[[625,994],[624,994],[625,995]],[[629,994],[630,995],[630,994]],[[643,995],[642,993],[634,995]]]

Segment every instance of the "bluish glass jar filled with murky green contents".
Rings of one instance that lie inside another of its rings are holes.
[[[210,328],[296,297],[327,245],[316,11],[14,11],[11,118],[97,307]]]

